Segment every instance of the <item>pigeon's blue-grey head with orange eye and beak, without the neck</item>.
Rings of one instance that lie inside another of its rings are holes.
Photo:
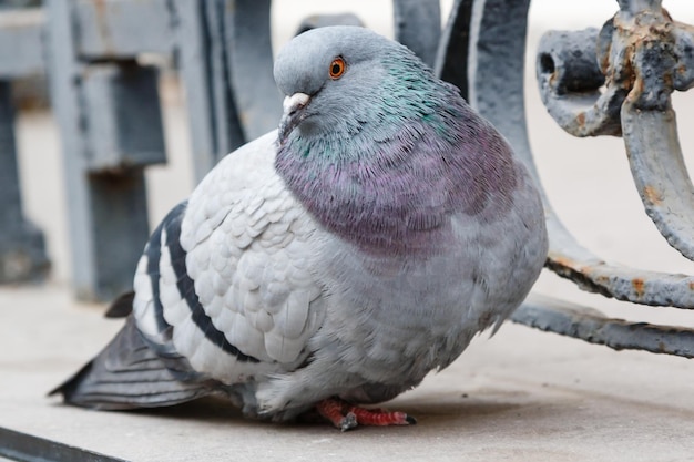
[[[395,55],[419,64],[407,48],[360,27],[318,28],[292,40],[274,68],[285,94],[280,143],[295,129],[304,136],[358,131],[384,96],[385,58]]]

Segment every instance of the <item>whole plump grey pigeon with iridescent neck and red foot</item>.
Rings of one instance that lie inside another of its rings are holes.
[[[53,390],[101,410],[222,396],[246,417],[415,423],[370,404],[449,366],[523,301],[543,205],[504,137],[406,47],[294,38],[278,129],[225,156],[154,230],[125,326]]]

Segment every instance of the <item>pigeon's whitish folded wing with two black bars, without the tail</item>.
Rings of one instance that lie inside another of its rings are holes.
[[[275,173],[275,140],[224,158],[164,220],[135,276],[143,335],[226,384],[299,366],[323,319],[319,233]]]

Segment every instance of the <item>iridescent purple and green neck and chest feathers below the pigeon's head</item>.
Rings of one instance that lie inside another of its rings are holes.
[[[297,136],[278,146],[275,166],[324,227],[363,250],[443,251],[451,216],[493,220],[516,187],[510,148],[465,110],[473,120],[451,122],[447,136],[425,122],[378,142]]]

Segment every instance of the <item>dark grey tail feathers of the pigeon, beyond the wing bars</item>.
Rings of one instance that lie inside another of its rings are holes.
[[[125,410],[172,405],[212,393],[213,383],[190,380],[194,374],[183,362],[180,357],[160,357],[129,317],[111,343],[49,394],[61,393],[74,405]]]

